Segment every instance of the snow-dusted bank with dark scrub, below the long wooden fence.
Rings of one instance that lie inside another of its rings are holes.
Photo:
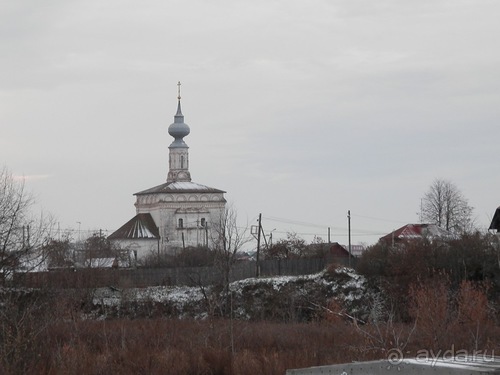
[[[329,313],[332,300],[343,315],[365,318],[374,292],[348,268],[307,276],[250,278],[223,286],[99,288],[87,317],[233,316],[243,320],[310,321]],[[331,312],[330,312],[331,313]]]

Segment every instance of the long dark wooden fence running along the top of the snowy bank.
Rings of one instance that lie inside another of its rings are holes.
[[[330,262],[332,260],[330,259]],[[344,263],[345,259],[334,259]],[[259,262],[261,277],[307,275],[321,271],[324,258],[264,260]],[[242,261],[234,264],[230,281],[255,277],[257,264]],[[222,281],[217,267],[137,268],[137,269],[72,269],[17,274],[16,285],[49,288],[97,288],[104,286],[146,287],[155,285],[209,285]]]

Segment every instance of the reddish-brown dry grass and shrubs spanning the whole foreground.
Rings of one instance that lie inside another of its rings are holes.
[[[496,305],[485,284],[470,281],[458,289],[447,278],[412,284],[408,320],[386,311],[364,323],[346,318],[334,299],[310,323],[80,320],[86,293],[5,293],[0,374],[283,375],[290,368],[384,358],[394,348],[406,356],[500,353]]]

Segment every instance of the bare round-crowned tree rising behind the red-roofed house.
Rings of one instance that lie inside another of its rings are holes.
[[[474,229],[472,211],[454,183],[436,179],[422,198],[421,220],[452,233],[468,233]]]

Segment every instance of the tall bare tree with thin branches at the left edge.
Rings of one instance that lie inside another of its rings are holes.
[[[0,272],[4,278],[16,270],[29,271],[43,261],[38,250],[49,239],[53,220],[43,215],[35,219],[33,204],[24,180],[16,180],[6,168],[1,169]]]

